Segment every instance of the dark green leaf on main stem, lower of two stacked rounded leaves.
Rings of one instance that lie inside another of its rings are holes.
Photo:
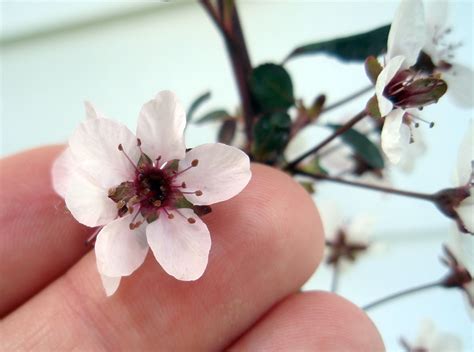
[[[254,125],[253,155],[257,161],[272,164],[288,144],[291,118],[285,112],[263,115]]]

